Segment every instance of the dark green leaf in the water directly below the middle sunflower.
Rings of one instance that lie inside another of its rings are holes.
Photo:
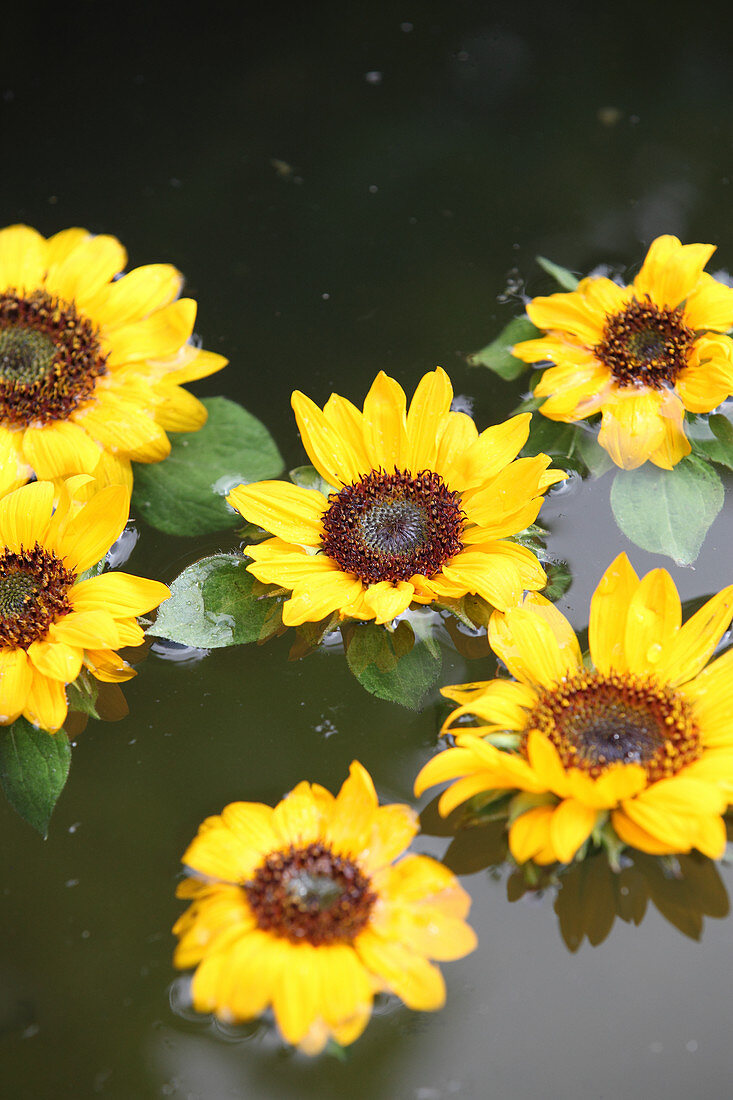
[[[413,711],[419,710],[442,668],[441,653],[431,652],[425,640],[414,641],[404,620],[394,631],[374,623],[354,626],[347,636],[347,661],[368,692]]]

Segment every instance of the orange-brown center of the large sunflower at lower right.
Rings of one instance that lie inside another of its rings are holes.
[[[702,755],[690,704],[653,676],[584,670],[546,688],[529,715],[566,768],[598,779],[617,763],[642,765],[649,782],[676,774]]]

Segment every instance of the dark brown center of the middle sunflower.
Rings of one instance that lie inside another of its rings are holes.
[[[430,470],[373,471],[328,502],[321,547],[364,584],[434,576],[463,549],[460,494]]]

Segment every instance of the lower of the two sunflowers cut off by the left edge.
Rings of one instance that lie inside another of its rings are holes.
[[[83,669],[111,683],[134,675],[116,650],[141,645],[135,616],[168,588],[128,573],[80,576],[119,537],[129,508],[127,488],[96,491],[86,474],[0,501],[0,724],[22,714],[53,733],[66,718],[65,685]]]

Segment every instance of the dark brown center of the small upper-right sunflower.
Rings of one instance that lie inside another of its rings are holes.
[[[685,370],[693,342],[681,306],[669,309],[648,297],[632,298],[625,309],[609,317],[593,351],[619,385],[661,389],[674,385]]]

